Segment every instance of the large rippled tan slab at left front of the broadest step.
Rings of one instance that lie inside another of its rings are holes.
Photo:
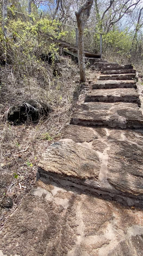
[[[100,160],[95,151],[75,142],[55,142],[42,154],[38,166],[45,172],[62,176],[97,179]]]

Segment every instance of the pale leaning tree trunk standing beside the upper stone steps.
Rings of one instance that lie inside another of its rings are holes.
[[[78,26],[78,63],[80,70],[80,80],[85,82],[85,63],[84,63],[84,28],[87,19],[90,16],[91,7],[93,0],[86,0],[86,3],[83,4],[76,12],[76,21]]]

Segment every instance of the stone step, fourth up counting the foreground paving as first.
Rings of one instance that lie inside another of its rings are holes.
[[[139,94],[134,88],[92,90],[85,102],[130,102],[141,105]]]

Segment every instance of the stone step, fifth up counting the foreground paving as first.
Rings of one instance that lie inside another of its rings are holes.
[[[111,88],[135,88],[135,80],[97,80],[92,84],[92,89],[111,89]]]

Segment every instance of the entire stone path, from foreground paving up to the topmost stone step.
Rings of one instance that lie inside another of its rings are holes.
[[[43,153],[37,188],[5,225],[7,255],[143,255],[141,85],[131,65],[95,66],[92,91]]]

